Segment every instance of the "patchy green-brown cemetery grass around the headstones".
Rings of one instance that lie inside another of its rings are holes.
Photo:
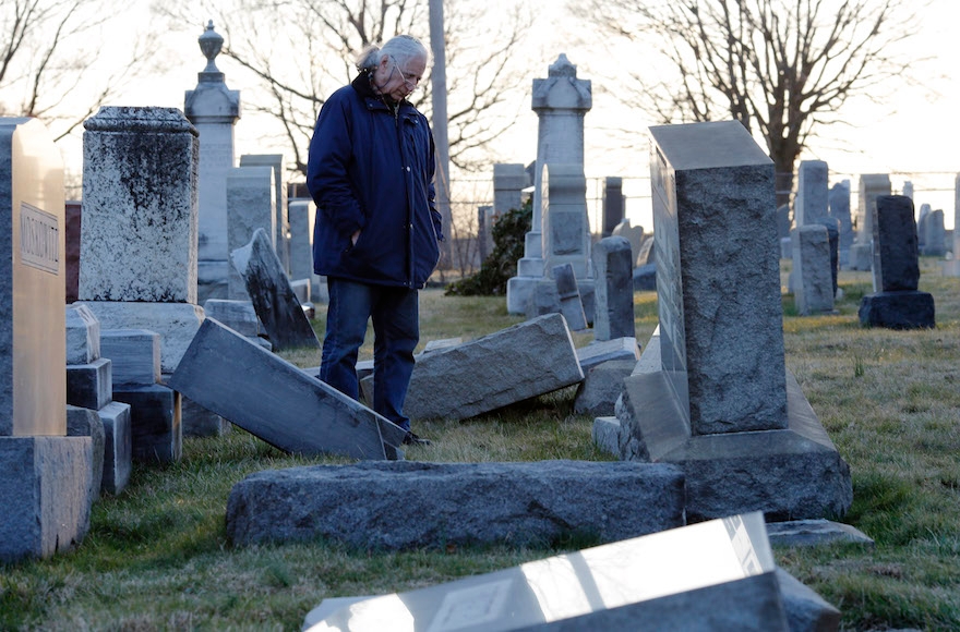
[[[784,275],[789,262],[784,262]],[[841,271],[839,314],[799,317],[784,295],[787,366],[850,464],[854,499],[842,522],[874,538],[775,548],[778,563],[842,611],[847,630],[960,629],[960,283],[921,258],[920,289],[937,327],[860,326],[869,272]],[[785,285],[785,276],[783,280]],[[637,340],[657,325],[656,292],[635,294]],[[321,311],[322,313],[322,311]],[[422,294],[422,342],[477,338],[520,320],[501,297]],[[322,335],[322,321],[314,323]],[[574,333],[577,347],[591,335]],[[363,352],[372,353],[372,344]],[[319,354],[286,354],[316,366]],[[224,370],[243,370],[242,366]],[[592,418],[573,413],[575,388],[467,422],[417,424],[434,440],[410,460],[609,460],[591,446]],[[310,544],[236,548],[224,514],[248,474],[340,458],[287,455],[235,429],[184,440],[183,459],[134,465],[130,486],[93,508],[77,549],[0,566],[2,630],[299,630],[332,596],[409,591],[596,543],[381,552]],[[417,515],[398,515],[416,521]]]

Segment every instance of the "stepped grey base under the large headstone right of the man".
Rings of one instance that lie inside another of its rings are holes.
[[[787,429],[691,436],[665,373],[635,374],[616,406],[620,458],[679,465],[688,522],[747,511],[768,522],[843,515],[850,467],[789,372],[787,414]]]

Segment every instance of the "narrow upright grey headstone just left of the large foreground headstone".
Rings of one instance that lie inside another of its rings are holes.
[[[593,245],[593,338],[636,338],[631,244],[624,238],[603,238]]]

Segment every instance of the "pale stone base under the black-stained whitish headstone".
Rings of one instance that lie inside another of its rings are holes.
[[[203,323],[203,307],[194,303],[134,303],[84,301],[100,329],[146,329],[160,335],[160,370],[173,373]]]

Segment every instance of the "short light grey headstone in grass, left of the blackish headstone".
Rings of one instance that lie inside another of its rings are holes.
[[[833,312],[830,235],[821,223],[793,230],[793,296],[801,316]]]

